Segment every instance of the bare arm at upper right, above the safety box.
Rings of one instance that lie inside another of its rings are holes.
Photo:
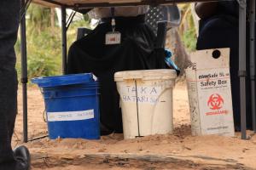
[[[195,3],[195,13],[201,19],[205,19],[216,12],[217,6],[218,6],[218,2]]]

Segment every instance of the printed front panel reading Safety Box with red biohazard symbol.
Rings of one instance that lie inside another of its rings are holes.
[[[197,71],[199,108],[202,132],[233,133],[230,69]]]

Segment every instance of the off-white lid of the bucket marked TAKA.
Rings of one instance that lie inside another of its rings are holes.
[[[114,81],[142,79],[142,80],[170,80],[175,79],[177,73],[170,69],[141,70],[141,71],[119,71],[114,74]]]

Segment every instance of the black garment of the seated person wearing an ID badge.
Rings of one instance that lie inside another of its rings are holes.
[[[163,49],[154,49],[156,37],[145,24],[144,15],[116,18],[116,31],[121,32],[119,45],[105,45],[105,35],[112,31],[108,20],[104,19],[94,31],[73,43],[68,53],[67,73],[93,72],[99,78],[101,122],[121,133],[122,116],[113,74],[165,68],[165,55]]]

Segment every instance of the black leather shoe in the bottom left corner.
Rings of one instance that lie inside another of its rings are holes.
[[[15,160],[19,162],[22,170],[29,170],[31,166],[31,156],[26,146],[19,146],[14,150]]]

